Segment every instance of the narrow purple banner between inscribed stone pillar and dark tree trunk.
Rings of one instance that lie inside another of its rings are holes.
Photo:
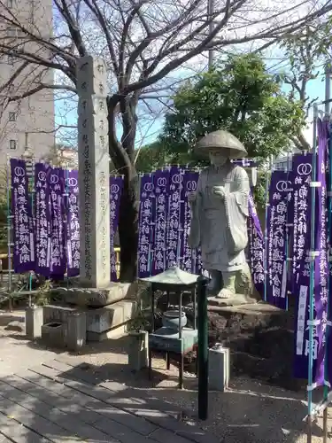
[[[111,241],[111,281],[117,282],[117,260],[114,251],[114,238],[119,224],[120,199],[123,189],[122,177],[110,177],[110,241]]]

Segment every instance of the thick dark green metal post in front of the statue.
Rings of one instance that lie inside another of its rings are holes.
[[[198,418],[207,419],[208,411],[208,328],[207,328],[207,280],[198,278]]]

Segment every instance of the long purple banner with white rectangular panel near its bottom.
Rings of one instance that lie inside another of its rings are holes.
[[[311,176],[312,154],[295,155],[292,162],[294,227],[293,227],[293,288],[297,297],[297,315],[295,330],[294,376],[308,377],[309,354],[309,295],[310,295],[310,230],[311,230]],[[313,359],[313,374],[317,356]],[[314,379],[315,377],[313,377]]]

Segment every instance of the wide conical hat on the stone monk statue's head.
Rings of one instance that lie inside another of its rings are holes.
[[[243,144],[228,131],[220,129],[204,136],[199,140],[195,147],[197,154],[206,157],[209,151],[228,149],[229,159],[242,159],[246,157],[247,152]]]

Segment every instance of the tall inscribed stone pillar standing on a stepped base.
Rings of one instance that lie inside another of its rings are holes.
[[[77,62],[80,198],[80,279],[110,286],[110,189],[106,66],[101,58]]]

